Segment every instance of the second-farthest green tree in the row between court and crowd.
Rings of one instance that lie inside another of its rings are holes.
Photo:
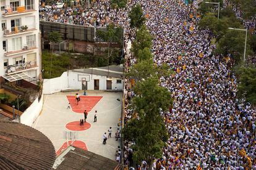
[[[143,50],[146,47],[151,49],[152,47],[152,36],[147,30],[145,25],[142,25],[139,30],[137,30],[135,41],[132,42],[132,52],[136,57],[138,57],[139,50]]]

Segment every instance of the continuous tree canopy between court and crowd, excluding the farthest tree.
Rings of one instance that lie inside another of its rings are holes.
[[[162,148],[169,137],[160,111],[167,111],[173,103],[171,92],[159,84],[160,76],[169,76],[171,71],[166,64],[160,67],[154,64],[150,51],[152,39],[147,27],[142,25],[132,43],[137,62],[126,76],[137,80],[133,89],[135,97],[131,101],[137,117],[131,119],[122,131],[125,139],[136,144],[133,160],[137,163],[145,160],[150,166],[153,158],[162,156]]]

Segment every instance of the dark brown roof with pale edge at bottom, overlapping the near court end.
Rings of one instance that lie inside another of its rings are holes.
[[[66,170],[80,170],[80,169],[90,169],[90,170],[109,170],[118,169],[119,163],[116,161],[105,158],[104,156],[97,155],[96,153],[90,152],[88,150],[83,150],[82,148],[77,148],[70,146],[67,148],[67,152],[63,152],[64,155],[59,155],[61,158],[57,158],[56,161],[61,160],[58,165],[54,164],[56,169],[66,169]]]

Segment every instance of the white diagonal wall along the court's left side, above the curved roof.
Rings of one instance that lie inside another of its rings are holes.
[[[28,126],[32,126],[35,119],[40,115],[43,107],[43,94],[41,96],[40,101],[38,98],[28,107],[23,114],[20,116],[20,123],[26,124]]]

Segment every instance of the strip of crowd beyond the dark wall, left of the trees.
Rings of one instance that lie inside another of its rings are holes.
[[[110,1],[97,0],[90,7],[80,4],[72,7],[51,7],[40,12],[41,21],[59,22],[66,24],[105,27],[109,23],[124,25],[127,18],[126,9],[111,8]]]

